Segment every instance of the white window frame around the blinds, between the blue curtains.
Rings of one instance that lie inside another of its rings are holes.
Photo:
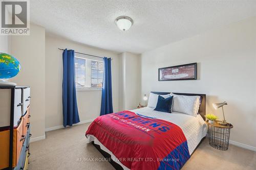
[[[96,61],[96,62],[102,62],[103,63],[103,71],[104,71],[104,61],[103,61],[103,59],[95,58],[95,57],[91,57],[91,56],[87,56],[87,55],[82,55],[82,54],[77,54],[77,53],[75,53],[75,58],[85,59],[86,60],[86,65],[87,65],[88,60]],[[90,65],[91,65],[91,62],[90,62]],[[90,69],[92,69],[92,68],[90,67]],[[86,75],[85,77],[86,78],[90,77],[90,81],[92,81],[91,80],[92,79],[91,71],[90,71],[90,73],[87,73],[87,71],[86,71],[86,74],[89,74],[90,76]],[[103,82],[102,82],[102,84],[103,84]],[[81,87],[81,88],[76,87],[76,91],[101,91],[101,90],[102,90],[102,87]]]

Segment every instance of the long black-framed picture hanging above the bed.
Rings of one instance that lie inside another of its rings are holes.
[[[158,69],[158,81],[197,80],[197,63]]]

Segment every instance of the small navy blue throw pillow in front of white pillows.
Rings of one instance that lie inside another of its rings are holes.
[[[158,96],[157,106],[154,110],[160,112],[172,113],[173,95],[164,99],[161,95]]]

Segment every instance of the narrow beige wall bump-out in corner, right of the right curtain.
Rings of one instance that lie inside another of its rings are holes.
[[[119,110],[132,110],[139,105],[140,55],[119,54]]]

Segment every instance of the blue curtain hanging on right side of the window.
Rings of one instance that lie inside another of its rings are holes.
[[[111,58],[104,57],[104,77],[100,115],[113,113],[111,80]]]

